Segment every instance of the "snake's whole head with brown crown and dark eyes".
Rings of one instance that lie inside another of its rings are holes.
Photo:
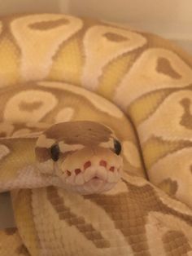
[[[69,121],[51,126],[35,148],[42,174],[51,173],[72,192],[106,192],[120,180],[121,145],[111,129],[94,121]]]

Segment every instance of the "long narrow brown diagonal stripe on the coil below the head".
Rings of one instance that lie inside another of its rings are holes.
[[[64,205],[63,198],[59,196],[56,188],[49,187],[46,189],[47,199],[55,209],[55,212],[59,215],[59,219],[65,221],[70,226],[75,226],[86,239],[92,241],[97,248],[110,248],[110,241],[107,241],[99,232],[96,230],[91,223],[86,223],[85,218],[77,216]]]

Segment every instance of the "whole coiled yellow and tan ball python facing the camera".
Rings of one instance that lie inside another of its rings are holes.
[[[0,255],[192,255],[192,59],[63,14],[0,20]]]

